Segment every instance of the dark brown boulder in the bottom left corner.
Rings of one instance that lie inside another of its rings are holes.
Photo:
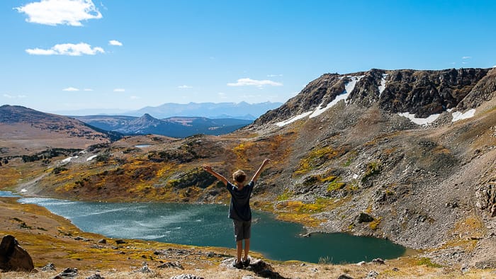
[[[28,251],[19,246],[11,235],[6,235],[0,244],[0,269],[3,271],[33,271],[33,259]]]

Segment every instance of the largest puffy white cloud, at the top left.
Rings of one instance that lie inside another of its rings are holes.
[[[82,26],[81,21],[102,18],[91,0],[41,0],[15,8],[26,21],[45,25]]]

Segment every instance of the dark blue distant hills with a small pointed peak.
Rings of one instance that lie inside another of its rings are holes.
[[[201,117],[153,118],[145,113],[140,118],[123,115],[75,116],[78,120],[103,130],[120,132],[123,135],[164,135],[189,137],[197,134],[222,135],[252,123],[251,120],[209,119]]]

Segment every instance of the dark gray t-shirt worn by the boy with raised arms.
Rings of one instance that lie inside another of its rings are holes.
[[[252,210],[249,208],[249,198],[252,195],[254,181],[249,181],[242,190],[237,190],[236,186],[227,182],[227,190],[231,193],[231,204],[229,206],[229,217],[240,221],[252,220]]]

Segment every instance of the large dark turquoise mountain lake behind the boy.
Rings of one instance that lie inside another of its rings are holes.
[[[235,248],[232,221],[225,205],[174,203],[86,203],[50,198],[21,198],[71,220],[86,232],[107,237],[148,239],[195,246]],[[278,261],[357,263],[373,258],[397,258],[405,248],[385,239],[349,234],[312,234],[299,237],[300,224],[276,220],[254,211],[251,248]]]

